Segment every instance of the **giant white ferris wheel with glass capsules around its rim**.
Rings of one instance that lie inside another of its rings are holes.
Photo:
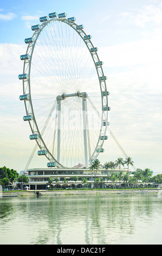
[[[46,156],[48,167],[89,167],[104,152],[110,107],[98,48],[83,25],[66,13],[40,17],[31,26],[23,74],[23,95],[31,129],[29,138]]]

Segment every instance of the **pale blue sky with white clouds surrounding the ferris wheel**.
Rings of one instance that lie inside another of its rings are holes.
[[[31,26],[39,17],[56,11],[75,16],[99,48],[110,92],[111,131],[135,168],[162,173],[162,3],[159,0],[42,0],[1,1],[0,4],[0,167],[20,172],[30,159],[35,143],[30,127],[23,121],[23,63],[20,55],[32,36]],[[125,160],[108,133],[102,164]],[[47,159],[34,155],[29,168],[47,167]]]

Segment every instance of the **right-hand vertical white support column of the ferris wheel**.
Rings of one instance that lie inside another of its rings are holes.
[[[83,132],[84,132],[84,144],[85,144],[85,167],[88,168],[88,152],[87,152],[87,125],[86,125],[86,97],[82,97],[82,109],[83,109]]]

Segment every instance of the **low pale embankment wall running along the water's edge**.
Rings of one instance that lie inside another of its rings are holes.
[[[77,194],[136,194],[136,193],[158,193],[159,188],[154,189],[134,189],[134,190],[30,190],[30,191],[5,191],[3,197],[17,197],[17,196],[36,196],[39,192],[42,196],[64,196],[64,195],[77,195]]]

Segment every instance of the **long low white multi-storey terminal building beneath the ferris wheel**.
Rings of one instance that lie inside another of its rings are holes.
[[[127,168],[120,169],[123,174],[130,172]],[[81,164],[77,168],[40,168],[28,169],[26,174],[29,177],[29,190],[48,190],[49,186],[53,189],[67,189],[67,188],[92,188],[95,179],[99,178],[98,187],[107,188],[112,185],[111,180],[107,180],[107,176],[111,173],[119,173],[119,169],[104,169],[101,168],[98,172],[91,172],[88,168],[83,168]],[[49,178],[53,182],[49,184]],[[57,179],[56,179],[57,178]],[[84,182],[86,178],[86,182]],[[117,181],[117,184],[119,181]]]

